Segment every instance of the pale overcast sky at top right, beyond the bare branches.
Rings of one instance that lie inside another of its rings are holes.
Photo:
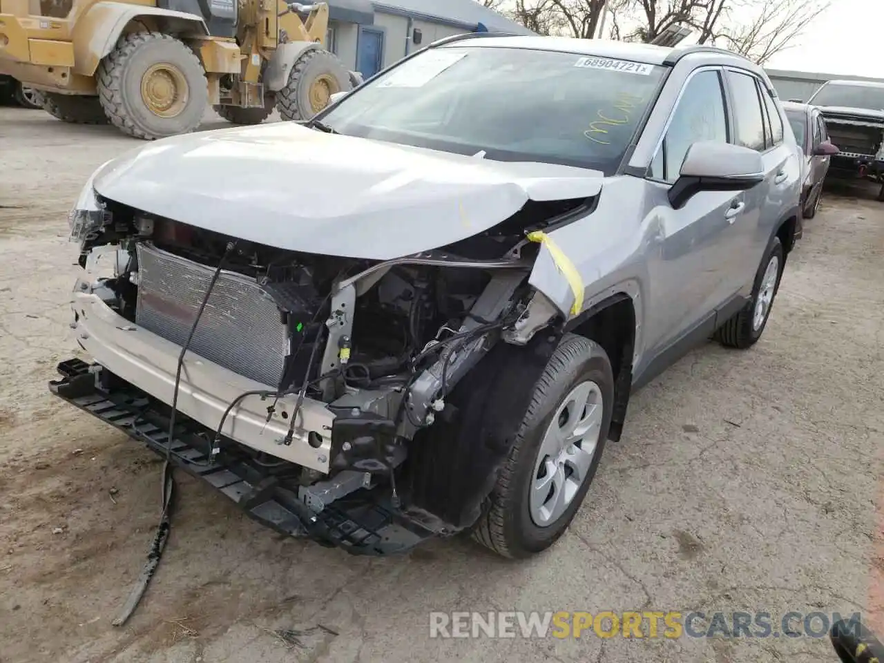
[[[767,66],[884,79],[884,61],[877,55],[882,29],[882,0],[832,0],[796,46],[773,56]]]

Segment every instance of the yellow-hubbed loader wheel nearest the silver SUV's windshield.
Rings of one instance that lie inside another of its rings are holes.
[[[308,120],[329,104],[335,92],[351,89],[350,74],[338,57],[311,49],[292,65],[286,87],[277,93],[277,110],[286,120]]]

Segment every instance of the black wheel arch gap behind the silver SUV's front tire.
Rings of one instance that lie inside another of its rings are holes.
[[[629,394],[632,391],[633,361],[640,320],[633,297],[631,293],[615,291],[565,325],[565,331],[598,343],[611,362],[614,404],[608,439],[613,442],[620,439],[623,431]]]

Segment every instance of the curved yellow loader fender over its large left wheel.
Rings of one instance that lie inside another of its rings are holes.
[[[126,26],[135,19],[150,17],[164,30],[206,36],[205,21],[187,11],[173,11],[140,4],[102,2],[93,4],[72,31],[73,72],[92,76],[102,58],[110,53]]]

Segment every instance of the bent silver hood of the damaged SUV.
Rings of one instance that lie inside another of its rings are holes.
[[[111,201],[244,240],[387,260],[483,232],[529,200],[596,195],[603,177],[282,122],[150,143],[105,164],[94,186]]]

